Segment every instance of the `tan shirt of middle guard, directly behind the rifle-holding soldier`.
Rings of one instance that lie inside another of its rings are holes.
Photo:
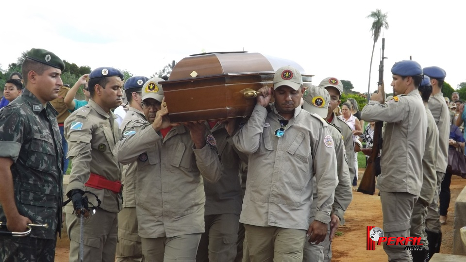
[[[438,129],[435,125],[432,113],[429,106],[426,106],[427,113],[427,135],[426,148],[422,157],[422,188],[419,195],[419,200],[423,201],[427,206],[433,202],[433,195],[437,185],[437,173],[435,166],[437,163],[438,152]]]

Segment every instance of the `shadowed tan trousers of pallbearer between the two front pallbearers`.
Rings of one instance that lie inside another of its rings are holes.
[[[196,255],[197,262],[233,262],[238,240],[239,214],[213,214],[204,216],[202,233]]]

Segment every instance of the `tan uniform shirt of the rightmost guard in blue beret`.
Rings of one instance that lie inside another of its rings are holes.
[[[429,98],[429,109],[432,112],[433,119],[438,128],[438,148],[437,151],[437,167],[436,170],[440,173],[447,171],[448,164],[448,139],[450,136],[450,115],[448,106],[443,98],[443,93],[437,94]]]

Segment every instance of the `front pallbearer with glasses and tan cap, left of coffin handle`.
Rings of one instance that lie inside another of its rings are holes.
[[[196,260],[204,232],[203,180],[223,173],[216,140],[204,122],[171,124],[162,79],[142,88],[149,123],[128,132],[115,150],[122,164],[137,163],[136,216],[143,260]]]

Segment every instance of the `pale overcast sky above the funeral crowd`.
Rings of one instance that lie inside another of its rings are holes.
[[[445,81],[456,88],[466,82],[465,6],[452,0],[6,1],[0,65],[5,70],[21,52],[43,48],[78,66],[149,77],[202,50],[244,49],[293,60],[315,75],[314,84],[333,76],[367,92],[373,41],[366,16],[379,8],[389,23],[383,31],[387,93],[391,66],[410,55],[423,67],[444,68]]]

